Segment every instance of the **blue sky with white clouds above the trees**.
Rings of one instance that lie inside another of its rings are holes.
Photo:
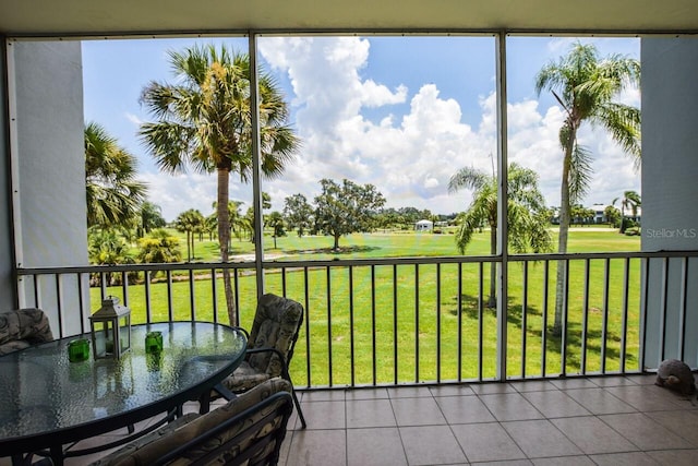
[[[550,95],[538,98],[533,77],[567,52],[574,38],[507,40],[509,160],[535,169],[549,205],[559,203],[562,112]],[[639,39],[592,40],[601,56],[639,58]],[[139,124],[151,116],[139,104],[153,80],[173,82],[167,50],[214,43],[246,51],[245,38],[142,39],[83,43],[85,121],[96,121],[140,162],[149,199],[168,220],[188,208],[204,215],[216,199],[214,175],[158,172],[140,144]],[[480,37],[260,37],[264,64],[291,106],[303,146],[284,177],[265,180],[274,210],[284,198],[318,193],[322,178],[375,184],[393,207],[448,214],[467,208],[468,192],[448,194],[460,167],[492,171],[496,154],[494,38]],[[639,106],[639,91],[622,99]],[[580,140],[595,155],[585,204],[610,203],[640,191],[639,174],[602,132],[586,128]],[[250,187],[231,177],[231,198],[246,203]]]

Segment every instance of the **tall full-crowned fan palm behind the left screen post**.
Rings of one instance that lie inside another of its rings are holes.
[[[142,124],[140,134],[161,170],[174,174],[191,166],[217,174],[218,242],[220,260],[228,262],[230,174],[238,174],[241,182],[252,176],[251,72],[258,75],[262,174],[280,175],[300,142],[287,124],[289,110],[278,84],[264,70],[250,70],[249,56],[209,45],[171,51],[169,58],[177,84],[152,82],[144,88],[141,101],[157,121]],[[224,287],[234,325],[228,268],[224,268]]]

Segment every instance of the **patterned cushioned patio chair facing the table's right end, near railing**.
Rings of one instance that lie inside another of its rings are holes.
[[[222,381],[232,393],[243,393],[274,377],[291,383],[288,367],[303,323],[303,307],[291,299],[267,294],[260,298],[248,339],[248,354],[234,372]],[[294,391],[293,404],[301,425],[305,418]]]

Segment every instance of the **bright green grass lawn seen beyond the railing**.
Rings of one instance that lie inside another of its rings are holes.
[[[184,243],[184,241],[182,242]],[[273,244],[270,238],[265,244]],[[233,241],[233,250],[252,253],[252,244]],[[342,251],[334,253],[327,237],[284,237],[277,249],[265,248],[267,256],[284,260],[332,258],[395,258],[457,255],[453,235],[373,234],[342,238]],[[248,248],[248,249],[244,249]],[[216,243],[196,243],[197,261],[214,261]],[[570,252],[637,251],[638,237],[616,230],[577,228],[570,234]],[[489,252],[489,232],[477,235],[469,254]],[[544,299],[544,263],[509,264],[507,306],[507,374],[543,375],[563,371],[561,339],[545,332],[553,323],[556,263],[547,273]],[[626,368],[637,366],[639,346],[639,261],[629,262],[628,296],[624,297],[625,262],[593,260],[588,263],[589,288],[585,290],[587,263],[570,262],[569,314],[564,368],[566,373],[621,368],[621,345],[626,342]],[[528,286],[525,288],[524,275]],[[286,295],[306,308],[304,326],[292,363],[299,385],[362,385],[371,383],[413,383],[435,380],[491,379],[496,375],[496,314],[480,309],[481,270],[479,264],[421,264],[337,266],[300,271],[272,270],[266,289]],[[459,279],[460,278],[460,279]],[[609,292],[604,295],[605,283]],[[486,299],[489,265],[482,267],[482,294]],[[241,325],[249,327],[256,300],[252,275],[238,277]],[[305,290],[308,291],[308,296]],[[93,302],[99,302],[93,289]],[[109,292],[120,296],[121,289]],[[193,285],[195,316],[213,319],[212,283]],[[460,297],[460,307],[459,303]],[[165,284],[151,285],[153,320],[191,319],[189,282],[172,285],[172,315],[168,314]],[[226,322],[222,283],[217,283],[219,320]],[[587,306],[585,307],[585,300]],[[627,303],[626,303],[627,302]],[[134,322],[145,321],[143,286],[129,287]],[[547,306],[546,325],[543,311]],[[627,309],[628,312],[624,313]],[[623,333],[623,322],[627,332]],[[586,327],[587,339],[582,340]],[[543,336],[546,350],[543,351]],[[602,343],[605,342],[605,345]],[[480,356],[480,347],[482,355]],[[522,355],[526,354],[526,358]],[[545,370],[542,361],[545,356]],[[375,361],[375,363],[374,363]],[[418,362],[418,363],[417,363]],[[635,365],[635,366],[634,366]],[[308,368],[310,367],[310,377]],[[480,369],[481,368],[481,369]]]

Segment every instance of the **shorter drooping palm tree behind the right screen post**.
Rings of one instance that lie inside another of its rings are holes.
[[[538,189],[538,174],[518,164],[509,164],[507,180],[508,240],[516,252],[544,252],[551,250],[552,238],[547,226],[549,212],[543,194]],[[472,235],[482,225],[490,226],[490,253],[497,252],[497,178],[474,168],[461,168],[448,182],[448,192],[461,188],[473,191],[473,199],[464,214],[459,215],[460,227],[456,232],[456,244],[460,253],[466,252]],[[490,267],[490,297],[488,307],[496,306],[496,268]]]

